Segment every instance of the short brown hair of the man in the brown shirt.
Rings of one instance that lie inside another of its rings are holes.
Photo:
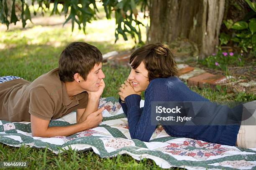
[[[97,47],[85,42],[71,42],[60,55],[60,80],[72,82],[75,73],[79,73],[86,80],[94,65],[100,62],[102,62],[102,54]]]

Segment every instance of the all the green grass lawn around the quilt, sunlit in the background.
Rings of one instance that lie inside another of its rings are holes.
[[[35,25],[26,29],[12,29],[0,32],[0,76],[16,75],[33,81],[39,75],[58,66],[60,52],[64,46],[73,41],[85,41],[95,45],[104,54],[113,50],[123,51],[131,49],[133,40],[123,41],[122,37],[114,44],[115,21],[98,20],[87,25],[87,35],[79,31],[70,31],[68,24]],[[143,35],[145,38],[145,35]],[[102,97],[118,97],[118,87],[127,79],[129,68],[122,65],[105,63],[105,90]],[[211,101],[251,101],[253,95],[245,93],[226,94],[212,89],[195,92],[207,97]],[[253,98],[254,97],[254,98]],[[1,161],[26,161],[30,169],[160,169],[154,161],[143,159],[136,161],[129,155],[115,158],[100,158],[92,151],[73,150],[59,155],[46,149],[14,148],[0,144]]]

